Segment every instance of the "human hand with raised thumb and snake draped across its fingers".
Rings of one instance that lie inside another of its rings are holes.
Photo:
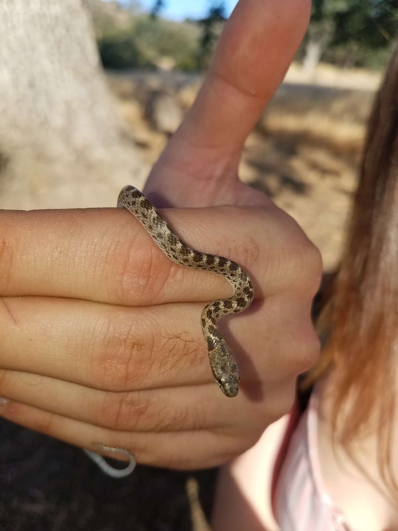
[[[274,74],[257,67],[252,81],[271,96],[298,44],[297,4],[241,3],[212,72],[238,48],[240,79],[250,54],[259,62],[269,48]],[[254,281],[249,310],[220,322],[238,359],[239,395],[227,398],[215,383],[200,326],[204,304],[231,295],[228,282],[171,263],[124,210],[3,211],[0,395],[10,402],[2,416],[95,451],[93,441],[128,448],[139,463],[197,468],[243,452],[289,409],[296,376],[318,350],[309,313],[319,253],[289,216],[237,181],[238,152],[266,98],[221,79],[206,81],[146,193],[178,206],[238,205],[163,216],[188,245],[228,256]],[[221,87],[235,95],[239,121],[229,122]]]

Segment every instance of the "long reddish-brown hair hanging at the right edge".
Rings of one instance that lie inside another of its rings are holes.
[[[398,42],[370,115],[347,246],[318,324],[327,340],[307,384],[335,369],[333,433],[351,453],[354,440],[376,429],[380,473],[397,496]]]

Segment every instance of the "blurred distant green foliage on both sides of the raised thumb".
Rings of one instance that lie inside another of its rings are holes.
[[[224,3],[214,0],[202,20],[177,23],[160,16],[167,1],[153,0],[149,15],[133,4],[127,9],[116,2],[97,1],[94,25],[105,67],[154,67],[164,57],[179,70],[209,66],[226,21]],[[397,22],[398,0],[313,0],[306,40],[297,58],[305,56],[310,40],[319,44],[323,61],[381,68]]]

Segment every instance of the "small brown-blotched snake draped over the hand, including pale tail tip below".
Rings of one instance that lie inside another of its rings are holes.
[[[210,366],[213,376],[221,391],[227,397],[235,397],[239,389],[238,365],[232,350],[221,335],[217,326],[223,315],[238,313],[245,310],[253,301],[253,284],[246,271],[236,262],[215,254],[200,253],[188,247],[167,225],[154,205],[134,186],[127,185],[119,193],[117,200],[119,208],[126,208],[150,234],[153,241],[170,260],[177,264],[193,269],[212,271],[226,278],[233,287],[233,295],[228,299],[213,301],[204,307],[201,315],[203,337],[209,352]],[[85,452],[96,461],[104,472],[114,477],[120,477],[125,472],[132,472],[135,466],[134,456],[124,448],[106,447],[94,443],[104,450],[123,452],[128,455],[130,464],[123,470],[110,467],[106,461],[95,452]],[[131,469],[132,467],[132,469]]]

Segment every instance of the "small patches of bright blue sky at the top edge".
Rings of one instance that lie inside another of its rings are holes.
[[[227,15],[229,16],[238,0],[224,0]],[[150,10],[154,0],[140,0],[144,8]],[[185,18],[200,19],[209,11],[211,0],[166,0],[166,7],[161,11],[161,16],[172,20],[184,20]]]

